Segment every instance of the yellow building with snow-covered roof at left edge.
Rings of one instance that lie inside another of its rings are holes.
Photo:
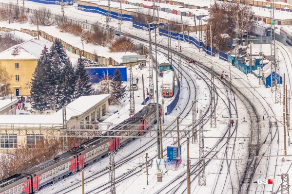
[[[11,92],[17,96],[30,96],[28,83],[37,67],[44,46],[52,43],[31,39],[0,53],[0,63],[11,75]]]

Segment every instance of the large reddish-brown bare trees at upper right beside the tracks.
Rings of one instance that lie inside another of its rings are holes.
[[[238,22],[238,37],[241,39],[244,32],[248,32],[252,26],[252,8],[249,5],[237,3],[214,2],[209,9],[210,18],[205,30],[205,42],[207,46],[212,44],[216,51],[226,52],[229,39],[235,37],[236,22]],[[212,29],[211,29],[212,28]]]

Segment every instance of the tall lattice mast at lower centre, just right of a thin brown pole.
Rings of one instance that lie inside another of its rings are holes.
[[[203,130],[203,111],[200,110],[200,130],[199,130],[199,186],[206,186],[205,173],[205,152],[204,152],[204,130]]]

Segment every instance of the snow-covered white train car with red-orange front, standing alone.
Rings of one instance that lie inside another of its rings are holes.
[[[162,96],[172,97],[175,93],[175,73],[174,71],[164,71],[162,78]]]

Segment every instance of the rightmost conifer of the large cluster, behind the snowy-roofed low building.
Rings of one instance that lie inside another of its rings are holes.
[[[93,92],[92,84],[88,82],[89,75],[85,71],[84,61],[80,57],[78,58],[78,63],[75,71],[76,76],[76,86],[74,92],[74,99],[79,98],[80,96],[88,96]]]

